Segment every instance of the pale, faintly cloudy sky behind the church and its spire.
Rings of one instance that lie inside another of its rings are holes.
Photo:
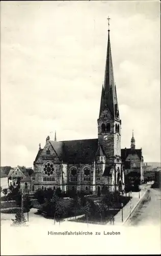
[[[1,1],[1,166],[33,166],[46,137],[97,138],[108,42],[121,148],[160,162],[160,2]]]

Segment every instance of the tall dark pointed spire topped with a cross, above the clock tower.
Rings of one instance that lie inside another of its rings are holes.
[[[113,62],[111,54],[111,43],[110,43],[110,18],[108,17],[108,49],[106,53],[106,64],[104,74],[104,105],[108,106],[112,115],[116,117],[118,110],[117,95],[116,95],[116,84],[114,81]]]

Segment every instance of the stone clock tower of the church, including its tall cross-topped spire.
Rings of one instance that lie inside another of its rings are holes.
[[[98,123],[98,141],[105,153],[105,165],[121,169],[121,119],[119,115],[116,84],[108,30],[108,49],[104,84],[102,85]]]

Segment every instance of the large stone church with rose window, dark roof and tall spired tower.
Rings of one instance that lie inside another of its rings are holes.
[[[104,84],[97,119],[98,138],[55,141],[46,138],[34,161],[34,190],[70,189],[101,193],[124,189],[121,160],[121,119],[108,30]]]

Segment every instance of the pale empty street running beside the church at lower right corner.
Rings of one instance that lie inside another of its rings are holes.
[[[161,195],[159,188],[149,188],[145,197],[132,212],[125,225],[160,225]]]

